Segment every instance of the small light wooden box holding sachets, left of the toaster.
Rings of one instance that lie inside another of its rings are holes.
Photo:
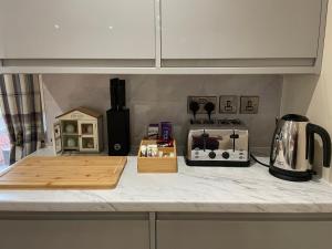
[[[156,144],[156,141],[142,141],[142,145]],[[174,147],[158,148],[164,153],[174,153],[174,157],[142,157],[141,146],[137,155],[138,173],[177,173],[176,142]]]

